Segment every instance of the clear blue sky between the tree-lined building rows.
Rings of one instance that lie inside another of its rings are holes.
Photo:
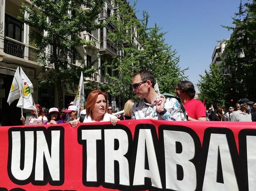
[[[133,0],[130,1],[133,3]],[[217,40],[229,38],[232,31],[221,25],[233,26],[232,16],[238,12],[240,0],[138,0],[137,18],[148,12],[149,26],[162,27],[165,42],[180,55],[179,65],[189,80],[197,84],[200,74],[209,70]],[[196,88],[197,89],[197,88]]]

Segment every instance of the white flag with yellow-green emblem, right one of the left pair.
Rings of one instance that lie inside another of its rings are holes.
[[[20,79],[21,79],[21,88],[22,95],[20,96],[17,107],[24,109],[36,109],[32,93],[33,93],[33,84],[30,82],[24,71],[20,68]]]

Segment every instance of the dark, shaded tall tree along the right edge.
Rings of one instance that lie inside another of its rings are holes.
[[[230,39],[224,41],[223,66],[230,69],[225,91],[230,87],[234,89],[234,101],[243,97],[256,100],[256,1],[240,3],[239,13],[235,15],[233,24],[236,27],[223,26],[234,31]]]

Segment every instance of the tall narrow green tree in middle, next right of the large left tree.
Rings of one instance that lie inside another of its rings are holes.
[[[122,100],[135,98],[131,88],[135,56],[138,54],[132,38],[135,36],[134,26],[139,25],[139,20],[135,17],[135,3],[133,6],[129,6],[123,0],[115,1],[117,9],[111,22],[114,30],[113,32],[109,31],[107,38],[115,44],[118,55],[113,57],[111,63],[106,62],[101,66],[101,68],[107,67],[115,73],[114,76],[106,74],[109,83],[103,84],[101,87]]]

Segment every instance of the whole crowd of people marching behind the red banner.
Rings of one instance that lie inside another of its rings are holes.
[[[36,110],[31,110],[32,116],[25,124],[25,118],[20,120],[23,125],[36,124],[62,124],[69,123],[76,127],[83,122],[106,122],[110,121],[114,126],[119,120],[156,119],[175,121],[256,121],[256,103],[246,98],[241,98],[236,106],[230,106],[229,111],[218,108],[205,109],[204,104],[195,99],[195,87],[192,82],[180,81],[175,88],[176,96],[165,97],[155,91],[155,80],[151,71],[143,70],[133,76],[132,88],[139,101],[128,100],[124,104],[124,113],[119,116],[113,115],[113,108],[107,104],[106,93],[94,90],[89,93],[85,109],[79,111],[72,102],[68,108],[61,109],[52,107],[47,116],[39,104],[35,104]],[[252,109],[250,108],[252,104]],[[183,107],[184,106],[184,107]],[[185,108],[182,109],[182,108]],[[235,111],[236,110],[236,111]],[[79,111],[79,112],[78,112]],[[185,113],[186,111],[186,113]]]

